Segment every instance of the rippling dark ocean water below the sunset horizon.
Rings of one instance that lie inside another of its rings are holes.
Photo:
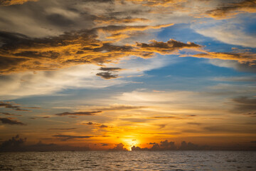
[[[0,152],[0,170],[256,170],[256,152]]]

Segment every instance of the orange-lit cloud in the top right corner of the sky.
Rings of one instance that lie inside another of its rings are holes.
[[[256,13],[256,1],[245,0],[238,3],[226,3],[216,9],[206,11],[214,19],[229,19],[241,13]]]

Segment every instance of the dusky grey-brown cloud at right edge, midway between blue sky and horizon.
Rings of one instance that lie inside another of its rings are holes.
[[[248,98],[248,97],[238,97],[233,98],[233,102],[235,102],[235,108],[233,109],[236,113],[256,113],[256,98]]]

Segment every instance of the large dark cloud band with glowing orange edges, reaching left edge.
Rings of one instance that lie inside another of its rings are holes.
[[[112,28],[114,27],[114,28]],[[195,43],[170,41],[137,43],[134,45],[116,46],[107,41],[99,41],[97,30],[107,32],[127,31],[137,26],[112,26],[76,32],[63,33],[49,38],[28,38],[27,36],[1,31],[4,45],[0,48],[1,74],[21,71],[53,71],[85,63],[99,65],[119,61],[125,56],[149,58],[154,53],[170,54],[183,48],[199,48]],[[138,26],[146,29],[145,26]],[[159,26],[161,28],[161,26]],[[132,29],[132,30],[133,30]],[[136,30],[136,29],[135,29]],[[110,76],[101,73],[101,76]]]

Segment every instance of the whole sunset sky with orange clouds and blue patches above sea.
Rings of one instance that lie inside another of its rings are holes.
[[[255,150],[255,13],[255,0],[0,1],[0,150]]]

